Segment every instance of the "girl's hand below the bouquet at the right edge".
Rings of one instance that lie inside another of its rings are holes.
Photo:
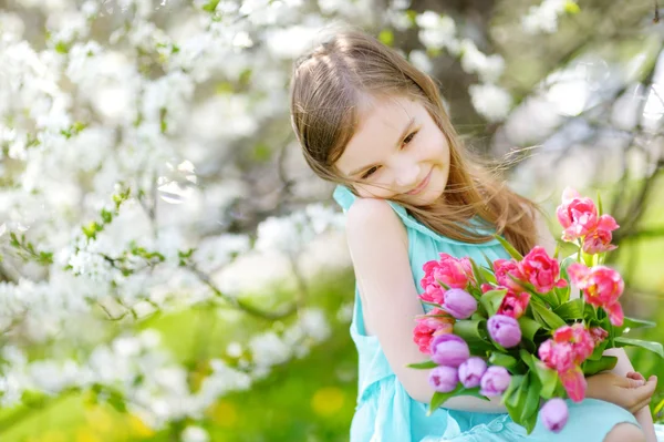
[[[635,372],[630,372],[626,377],[603,372],[589,377],[587,381],[588,398],[615,403],[631,413],[646,407],[657,387],[656,376],[651,376],[646,382],[643,376]]]

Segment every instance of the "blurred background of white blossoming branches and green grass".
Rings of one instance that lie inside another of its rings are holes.
[[[566,186],[601,195],[623,306],[664,323],[658,8],[0,0],[0,440],[347,440],[343,217],[288,115],[292,61],[344,25],[434,76],[549,214]]]

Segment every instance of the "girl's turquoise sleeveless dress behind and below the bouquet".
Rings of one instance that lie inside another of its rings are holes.
[[[346,187],[338,186],[334,199],[346,212],[355,201]],[[418,223],[406,209],[390,202],[406,227],[408,256],[413,281],[419,291],[424,263],[438,259],[439,253],[460,258],[469,256],[484,263],[483,254],[491,260],[509,258],[500,243],[466,244],[454,240]],[[629,411],[610,402],[585,399],[568,401],[569,420],[556,434],[538,421],[531,434],[512,422],[507,413],[479,413],[444,408],[426,415],[428,405],[411,399],[381,349],[376,337],[364,331],[362,304],[355,290],[355,308],[351,337],[359,352],[357,404],[351,424],[351,442],[491,442],[491,441],[583,441],[600,442],[620,422],[637,422]]]

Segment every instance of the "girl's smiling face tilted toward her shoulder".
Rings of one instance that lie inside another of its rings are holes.
[[[449,145],[418,101],[371,99],[335,166],[345,177],[361,182],[355,184],[361,197],[400,196],[422,206],[445,191]]]

